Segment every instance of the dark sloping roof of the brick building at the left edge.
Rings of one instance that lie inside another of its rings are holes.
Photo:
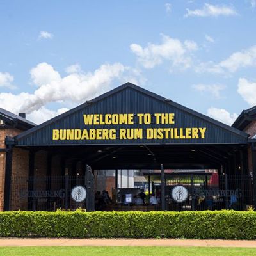
[[[15,125],[15,127],[20,129],[30,129],[32,127],[35,127],[36,124],[27,120],[26,118],[23,118],[22,116],[15,115],[10,111],[7,111],[6,109],[0,108],[0,119],[4,120],[6,124],[8,125]]]

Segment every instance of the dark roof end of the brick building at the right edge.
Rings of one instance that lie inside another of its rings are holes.
[[[256,120],[256,106],[243,110],[232,124],[232,127],[243,131],[253,120]]]

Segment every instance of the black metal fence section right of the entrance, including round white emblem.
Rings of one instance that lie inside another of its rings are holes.
[[[252,178],[245,175],[166,175],[166,209],[245,211],[253,205],[252,186]],[[156,186],[154,190],[159,193],[160,188]]]

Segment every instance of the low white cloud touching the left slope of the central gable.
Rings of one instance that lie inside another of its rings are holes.
[[[38,110],[31,112],[29,115],[26,116],[26,118],[28,120],[33,120],[35,124],[41,124],[51,118],[54,118],[54,116],[58,116],[58,115],[61,115],[62,113],[65,113],[68,110],[69,110],[68,108],[60,108],[54,111],[54,110],[42,107]]]

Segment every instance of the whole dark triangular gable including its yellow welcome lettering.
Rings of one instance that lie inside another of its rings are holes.
[[[17,136],[17,145],[247,143],[247,135],[127,85]]]

